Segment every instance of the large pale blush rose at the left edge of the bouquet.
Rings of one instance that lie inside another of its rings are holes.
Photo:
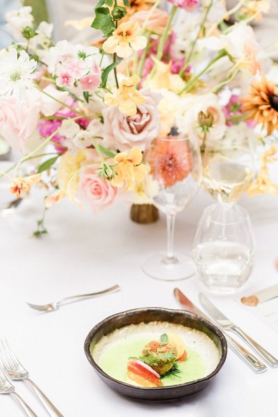
[[[0,97],[0,135],[14,150],[28,153],[28,141],[38,127],[40,106],[37,95],[24,101],[15,96]]]

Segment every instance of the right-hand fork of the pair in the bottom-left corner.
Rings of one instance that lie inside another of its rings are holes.
[[[63,414],[61,414],[60,411],[56,409],[54,404],[52,404],[52,402],[40,390],[40,388],[35,384],[35,382],[31,381],[31,379],[28,378],[28,371],[19,362],[17,356],[15,356],[15,354],[13,353],[6,339],[0,340],[0,357],[1,362],[3,364],[3,368],[6,370],[10,379],[12,379],[13,381],[26,381],[28,385],[31,386],[31,388],[33,388],[33,391],[35,391],[35,394],[38,396],[45,409],[47,409],[49,416],[63,417]],[[31,414],[31,416],[35,416],[35,414]]]

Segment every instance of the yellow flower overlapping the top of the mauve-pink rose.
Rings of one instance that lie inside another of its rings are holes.
[[[107,106],[119,106],[119,111],[127,116],[134,116],[137,113],[137,105],[144,104],[146,99],[135,89],[140,81],[137,75],[124,79],[115,94],[106,94],[104,102]]]

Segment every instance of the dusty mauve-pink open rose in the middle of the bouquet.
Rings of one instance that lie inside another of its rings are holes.
[[[103,145],[122,151],[137,146],[145,150],[158,135],[160,129],[157,104],[162,95],[150,88],[140,90],[146,102],[137,107],[135,116],[120,113],[117,107],[107,107],[102,111],[104,116]]]

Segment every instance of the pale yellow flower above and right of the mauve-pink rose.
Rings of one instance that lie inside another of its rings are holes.
[[[155,63],[155,70],[148,75],[144,82],[144,87],[150,87],[154,90],[167,88],[169,91],[179,93],[179,91],[184,88],[185,84],[181,77],[179,77],[179,74],[172,74],[172,62],[165,64],[158,61],[155,57],[152,57],[152,59]]]

